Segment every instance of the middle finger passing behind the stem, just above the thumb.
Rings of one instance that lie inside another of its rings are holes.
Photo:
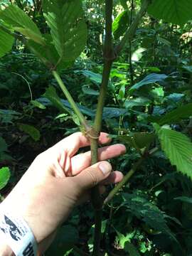
[[[124,154],[126,148],[122,144],[115,144],[112,146],[104,146],[98,149],[98,161],[103,161],[107,159],[112,159],[115,156],[119,156]],[[87,168],[91,164],[91,154],[90,151],[78,154],[77,156],[73,156],[71,159],[71,172],[72,175],[77,175],[83,169]]]

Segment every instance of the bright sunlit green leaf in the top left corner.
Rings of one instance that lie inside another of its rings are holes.
[[[6,8],[0,6],[0,18],[27,38],[31,38],[31,40],[37,43],[45,43],[36,23],[24,11],[19,9],[18,6],[13,4],[6,6]]]

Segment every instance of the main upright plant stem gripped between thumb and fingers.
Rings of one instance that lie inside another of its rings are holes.
[[[105,0],[105,45],[104,45],[104,67],[102,72],[102,83],[100,87],[100,96],[98,97],[97,110],[93,128],[96,134],[100,134],[102,127],[102,112],[107,95],[107,85],[110,79],[110,71],[114,60],[114,49],[112,46],[112,0]],[[90,139],[92,151],[92,164],[97,162],[97,139]],[[102,198],[98,186],[92,188],[92,205],[95,208],[95,235],[93,245],[93,256],[100,255],[100,237],[102,225]]]

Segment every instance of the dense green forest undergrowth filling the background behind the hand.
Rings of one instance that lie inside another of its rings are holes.
[[[38,49],[40,37],[33,41],[34,34],[18,28],[19,21],[15,24],[4,14],[10,3],[1,2],[2,201],[37,154],[83,127],[51,74],[53,67],[48,69],[36,51],[31,53],[32,46]],[[66,2],[81,8],[79,0]],[[46,23],[48,15],[43,16],[41,0],[11,0],[11,4],[22,9],[43,35],[53,29]],[[137,0],[114,1],[116,46],[136,20],[140,6]],[[58,65],[55,56],[51,58],[92,124],[102,82],[105,3],[82,1],[82,10],[87,32],[80,49],[73,48],[73,59],[65,55],[64,66],[63,62]],[[121,53],[114,54],[102,131],[110,134],[112,143],[127,146],[124,156],[111,161],[126,178],[118,191],[111,186],[104,195],[101,255],[192,255],[191,19],[191,0],[151,1],[135,33]],[[28,43],[20,40],[21,35]],[[90,203],[76,208],[46,256],[90,255],[94,224]]]

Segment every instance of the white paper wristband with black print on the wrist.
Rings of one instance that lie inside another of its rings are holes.
[[[37,243],[31,228],[23,218],[0,207],[0,238],[11,247],[16,256],[36,256]]]

